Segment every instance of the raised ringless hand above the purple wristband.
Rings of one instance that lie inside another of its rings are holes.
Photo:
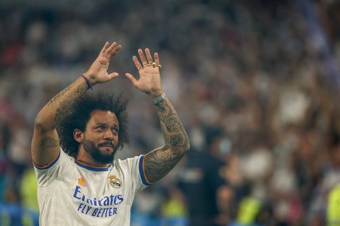
[[[121,48],[122,46],[117,46],[116,42],[113,42],[110,46],[108,42],[105,43],[97,59],[84,74],[93,85],[97,83],[105,83],[118,77],[118,73],[116,72],[108,74],[107,68],[111,58],[114,57]]]

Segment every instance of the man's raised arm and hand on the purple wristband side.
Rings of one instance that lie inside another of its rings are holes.
[[[117,73],[107,73],[109,60],[114,57],[121,46],[114,42],[111,46],[106,42],[97,59],[84,76],[91,85],[105,83],[118,76]],[[32,159],[38,166],[52,162],[59,154],[59,137],[57,125],[63,119],[73,102],[88,90],[84,78],[75,82],[54,96],[38,113],[34,122],[32,139]]]

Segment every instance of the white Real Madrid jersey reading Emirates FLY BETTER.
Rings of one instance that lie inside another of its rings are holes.
[[[87,166],[62,149],[49,165],[35,167],[41,226],[130,226],[136,192],[149,185],[144,156]]]

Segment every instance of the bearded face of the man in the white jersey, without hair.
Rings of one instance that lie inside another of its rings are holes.
[[[99,163],[112,163],[117,151],[118,130],[119,123],[114,113],[93,111],[83,134],[85,151]]]

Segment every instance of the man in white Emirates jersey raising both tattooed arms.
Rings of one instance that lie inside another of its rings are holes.
[[[148,49],[145,55],[139,49],[141,64],[133,57],[139,80],[126,76],[154,104],[165,145],[113,162],[117,148],[129,142],[127,102],[108,93],[83,94],[118,77],[107,68],[120,49],[106,42],[89,70],[53,97],[35,119],[32,157],[40,225],[130,225],[136,192],[164,177],[189,150],[183,125],[161,88],[158,54],[153,61]]]

